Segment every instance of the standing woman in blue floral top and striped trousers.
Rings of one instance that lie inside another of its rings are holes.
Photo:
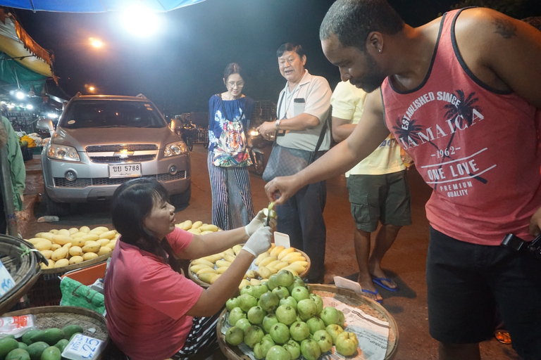
[[[247,150],[254,101],[242,94],[244,80],[237,63],[223,72],[227,91],[209,100],[209,176],[212,191],[212,223],[223,230],[247,225],[254,217]]]

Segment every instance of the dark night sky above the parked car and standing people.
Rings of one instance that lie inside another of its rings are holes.
[[[275,101],[285,79],[275,51],[286,41],[306,50],[306,68],[340,81],[323,56],[318,30],[333,1],[206,0],[161,14],[165,30],[137,38],[118,24],[118,13],[49,13],[15,9],[25,30],[56,56],[61,87],[73,96],[94,84],[101,94],[145,94],[167,114],[205,111],[224,91],[223,69],[237,62],[247,74],[244,94]],[[452,0],[390,0],[406,23],[422,25],[449,10]],[[97,50],[89,37],[106,42]]]

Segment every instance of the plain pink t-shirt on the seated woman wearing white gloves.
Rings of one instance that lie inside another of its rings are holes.
[[[187,248],[192,238],[178,228],[167,236],[175,253]],[[203,288],[121,238],[104,285],[109,335],[132,360],[163,360],[182,348],[193,320],[186,311]]]

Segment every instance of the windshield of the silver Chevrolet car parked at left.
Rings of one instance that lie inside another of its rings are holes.
[[[158,110],[144,101],[75,101],[62,116],[61,127],[166,127]]]

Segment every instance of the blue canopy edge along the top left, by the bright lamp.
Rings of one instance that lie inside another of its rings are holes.
[[[104,13],[106,11],[124,11],[137,4],[148,8],[149,11],[163,13],[201,1],[204,0],[0,0],[0,5],[32,11]]]

